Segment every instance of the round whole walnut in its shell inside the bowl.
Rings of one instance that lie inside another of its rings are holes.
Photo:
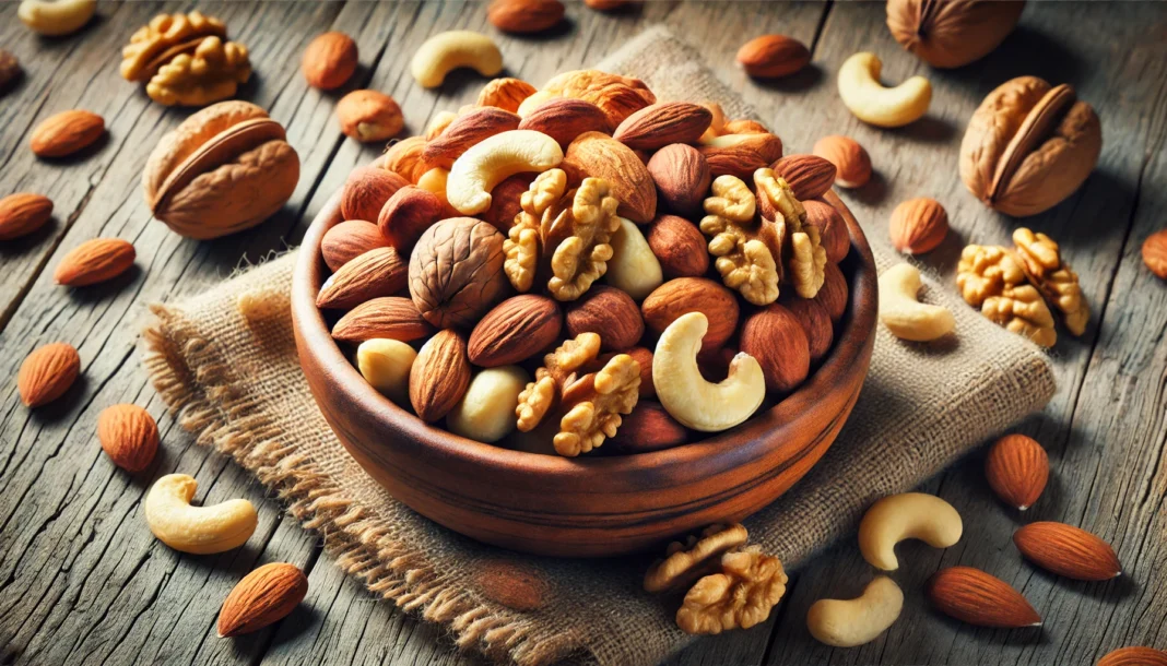
[[[421,234],[410,257],[410,296],[438,328],[473,328],[509,285],[503,234],[473,217],[452,217]]]

